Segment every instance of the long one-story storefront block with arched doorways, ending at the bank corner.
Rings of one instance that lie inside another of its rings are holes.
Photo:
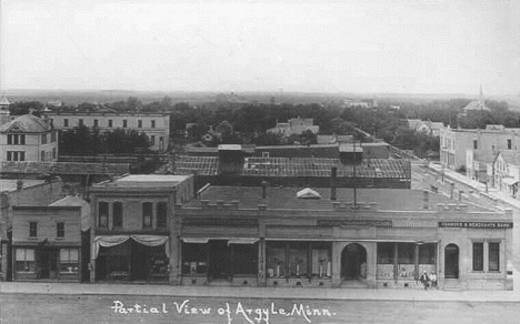
[[[330,200],[329,196],[339,200]],[[179,284],[504,290],[512,212],[410,190],[206,186],[177,204]]]

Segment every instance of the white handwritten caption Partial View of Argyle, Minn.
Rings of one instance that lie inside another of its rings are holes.
[[[279,305],[276,302],[260,303],[260,305],[250,305],[248,303],[237,302],[214,302],[210,304],[198,304],[191,300],[174,300],[164,301],[152,304],[147,303],[126,303],[122,301],[113,301],[110,305],[110,312],[118,316],[154,316],[171,317],[171,320],[186,320],[193,317],[198,322],[212,321],[221,318],[221,322],[216,323],[249,323],[249,324],[270,324],[276,323],[276,318],[286,318],[290,323],[320,323],[326,320],[330,321],[336,316],[336,312],[328,306],[313,307],[304,303],[291,303]],[[203,320],[207,317],[207,320]],[[329,318],[329,320],[327,320]],[[237,320],[237,321],[234,321]]]

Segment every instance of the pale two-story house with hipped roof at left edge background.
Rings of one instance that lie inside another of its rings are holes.
[[[58,160],[58,132],[47,121],[21,115],[0,126],[0,161]]]

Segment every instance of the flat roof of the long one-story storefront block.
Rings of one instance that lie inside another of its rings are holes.
[[[264,203],[268,210],[310,210],[327,211],[332,210],[330,201],[330,189],[316,189],[322,199],[302,199],[298,198],[298,192],[302,188],[267,188],[267,199],[262,200],[262,189],[251,186],[210,186],[201,193],[200,200],[192,200],[183,207],[200,207],[201,200],[210,201],[239,201],[240,209],[258,209],[259,203]],[[341,203],[353,202],[352,189],[337,189],[337,201]],[[372,204],[371,209],[379,211],[424,211],[424,193],[420,190],[404,189],[358,189],[357,202],[359,205]],[[429,193],[429,210],[436,210],[437,204],[462,203],[440,194]],[[496,212],[482,206],[468,204],[468,211],[471,212]]]

